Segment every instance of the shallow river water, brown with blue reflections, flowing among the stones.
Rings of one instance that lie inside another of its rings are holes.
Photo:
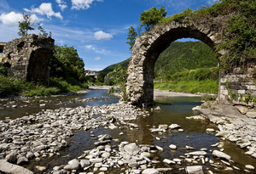
[[[75,101],[75,98],[93,98],[86,102],[70,102]],[[76,96],[62,96],[58,98],[44,98],[44,100],[51,100],[50,104],[47,104],[43,109],[56,109],[60,107],[76,107],[78,105],[90,105],[90,106],[100,106],[103,104],[113,104],[118,103],[119,100],[116,97],[108,96],[108,90],[91,90],[89,93],[76,95]],[[61,104],[60,104],[61,101]],[[69,102],[67,102],[69,101]],[[129,128],[118,128],[114,130],[104,129],[104,127],[99,127],[95,130],[90,131],[77,131],[74,132],[74,136],[70,138],[70,146],[60,152],[59,156],[53,156],[50,158],[45,158],[40,161],[32,160],[29,165],[25,167],[34,171],[35,173],[42,173],[42,171],[37,171],[35,166],[46,166],[46,171],[52,171],[54,166],[61,166],[67,164],[67,161],[73,160],[83,154],[84,150],[89,150],[94,148],[94,137],[101,134],[110,134],[113,139],[119,139],[119,143],[126,141],[129,143],[139,143],[139,144],[154,144],[158,145],[164,150],[154,154],[154,160],[164,160],[164,159],[174,159],[180,158],[181,155],[188,153],[185,149],[186,145],[194,147],[195,150],[200,150],[202,148],[207,149],[209,159],[212,159],[212,153],[209,151],[217,149],[212,148],[211,145],[214,143],[221,142],[220,139],[216,138],[214,134],[209,134],[206,132],[207,128],[218,128],[207,122],[207,121],[190,121],[186,120],[187,116],[198,115],[198,113],[192,111],[192,108],[196,105],[201,104],[200,97],[172,97],[172,98],[155,98],[155,101],[160,105],[160,111],[150,112],[148,117],[140,117],[133,123],[138,125],[137,129]],[[66,102],[66,103],[65,103]],[[3,104],[3,103],[2,103]],[[23,115],[29,115],[32,113],[37,113],[42,107],[38,107],[37,104],[32,104],[29,108],[2,108],[0,109],[0,119],[6,116],[10,118],[16,118]],[[101,115],[98,115],[101,116]],[[152,133],[149,128],[158,127],[160,124],[171,125],[176,123],[183,128],[183,132],[166,132],[166,133]],[[123,132],[121,135],[120,132]],[[119,143],[112,143],[112,145],[118,145]],[[177,145],[177,150],[171,150],[169,148],[170,144]],[[118,148],[118,147],[117,147]],[[254,165],[256,160],[244,154],[244,150],[236,147],[235,143],[230,143],[224,141],[224,153],[230,154],[232,160],[234,160],[235,166],[243,169],[245,165]],[[216,161],[216,160],[215,160]],[[208,163],[209,164],[209,163]],[[199,164],[201,165],[201,163]],[[158,167],[172,167],[173,170],[170,173],[184,173],[184,170],[179,170],[185,167],[182,165],[167,165],[165,163],[160,163]],[[204,165],[209,167],[214,173],[244,173],[244,171],[215,171],[212,166]],[[108,171],[107,173],[120,173],[118,169]]]

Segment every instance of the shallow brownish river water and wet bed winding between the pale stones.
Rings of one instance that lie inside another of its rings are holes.
[[[154,98],[160,106],[160,110],[147,109],[146,116],[139,116],[135,121],[126,121],[137,126],[117,126],[109,129],[106,126],[99,126],[90,130],[73,130],[73,136],[67,139],[68,146],[61,149],[58,155],[45,156],[40,160],[30,160],[29,164],[23,165],[34,173],[43,173],[53,171],[55,166],[65,166],[69,160],[78,159],[84,151],[95,148],[97,137],[102,134],[110,135],[115,141],[111,142],[113,149],[117,149],[121,142],[148,144],[162,148],[162,150],[151,155],[151,160],[157,160],[158,163],[151,165],[154,168],[172,168],[167,173],[185,173],[186,166],[193,166],[186,162],[185,154],[193,151],[206,151],[207,154],[202,162],[201,157],[191,156],[195,158],[194,165],[203,166],[204,171],[212,171],[214,173],[247,173],[253,171],[244,171],[246,165],[254,166],[256,160],[244,154],[245,150],[236,147],[235,143],[223,141],[215,136],[215,132],[207,132],[207,128],[218,130],[218,127],[211,124],[209,121],[194,121],[188,120],[186,117],[198,115],[198,112],[192,111],[192,108],[201,104],[200,96],[157,96]],[[42,109],[59,109],[76,108],[79,106],[101,107],[104,104],[117,104],[119,98],[108,95],[108,89],[92,89],[89,93],[61,96],[57,98],[34,98],[26,101],[2,101],[0,119],[4,120],[6,117],[16,119],[25,115],[32,115],[40,112]],[[15,107],[14,107],[15,105]],[[21,107],[22,106],[22,107]],[[100,118],[102,115],[93,115],[93,118]],[[177,124],[178,129],[160,132],[154,132],[155,128],[160,125]],[[218,143],[218,147],[212,144]],[[170,149],[170,144],[175,145],[176,149]],[[221,145],[219,145],[221,144]],[[189,146],[193,149],[188,149]],[[203,149],[203,150],[202,150]],[[215,157],[212,157],[213,150],[224,151],[229,154],[232,161],[224,163]],[[200,156],[200,155],[199,155]],[[188,157],[187,157],[188,158]],[[176,164],[168,164],[164,160],[179,159],[181,162]],[[209,161],[214,162],[210,163]],[[205,163],[205,164],[203,164]],[[216,164],[219,163],[219,166]],[[38,171],[37,166],[44,166],[43,171]],[[223,166],[223,167],[220,167]],[[227,170],[228,169],[228,170]],[[127,166],[122,166],[119,169],[116,167],[109,167],[106,173],[120,173],[125,172]],[[81,171],[81,170],[79,170]],[[93,171],[92,168],[88,169]],[[86,171],[87,172],[87,171]],[[100,171],[94,171],[98,173]]]

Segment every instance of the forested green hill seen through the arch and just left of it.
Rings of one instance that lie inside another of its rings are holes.
[[[125,70],[130,59],[110,65],[101,72],[110,72],[119,65]],[[177,71],[212,68],[218,65],[217,54],[203,42],[172,42],[169,48],[160,54],[154,65],[154,75],[169,78]]]

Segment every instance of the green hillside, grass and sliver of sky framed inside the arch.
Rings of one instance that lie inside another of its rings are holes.
[[[178,39],[155,61],[154,88],[184,93],[218,93],[218,65],[218,54],[204,42],[193,38]],[[198,85],[190,87],[186,81]],[[214,81],[214,87],[202,87],[202,81],[207,85]]]

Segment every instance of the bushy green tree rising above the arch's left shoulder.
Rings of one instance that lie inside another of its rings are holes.
[[[164,6],[161,8],[150,8],[144,11],[139,20],[140,26],[144,26],[145,31],[150,31],[160,20],[166,17],[166,9]]]

